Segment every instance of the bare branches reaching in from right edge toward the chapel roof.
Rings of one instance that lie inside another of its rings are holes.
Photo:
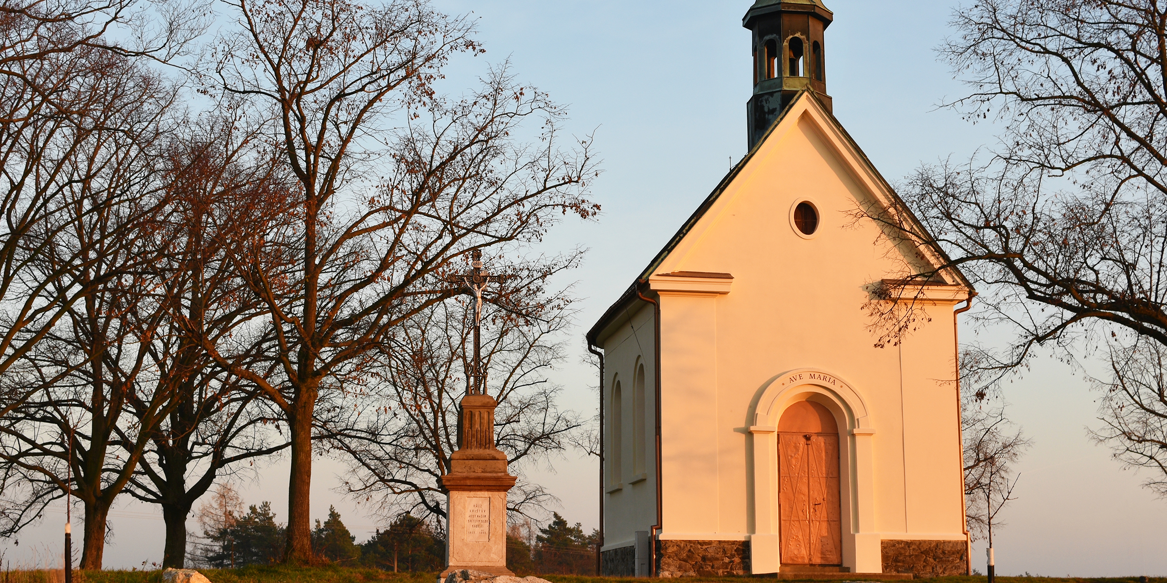
[[[1100,413],[1110,429],[1095,435],[1141,451],[1119,458],[1144,465],[1146,455],[1163,459],[1139,444],[1167,441],[1161,426],[1118,428],[1138,426],[1130,407],[1153,396],[1135,389],[1156,374],[1146,343],[1167,344],[1165,23],[1159,0],[962,7],[939,51],[970,94],[946,105],[971,120],[995,118],[1000,145],[909,177],[901,194],[914,216],[862,209],[896,243],[944,250],[943,268],[959,267],[981,290],[981,322],[1012,329],[1012,345],[979,363],[986,371],[1007,374],[1037,345],[1084,358],[1079,365],[1119,358],[1102,384],[1130,391],[1107,389]],[[886,319],[903,328],[910,311]],[[1139,357],[1124,360],[1123,346],[1141,346]]]

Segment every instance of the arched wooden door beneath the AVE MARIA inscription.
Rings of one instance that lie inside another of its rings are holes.
[[[777,433],[782,564],[841,564],[834,415],[817,402],[798,401],[782,413]]]

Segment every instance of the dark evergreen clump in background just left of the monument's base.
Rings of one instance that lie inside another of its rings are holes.
[[[440,571],[446,541],[425,520],[405,513],[361,545],[361,562],[387,571]]]

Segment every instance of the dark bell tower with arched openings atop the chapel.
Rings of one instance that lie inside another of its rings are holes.
[[[757,0],[742,17],[754,45],[754,96],[746,106],[749,148],[803,89],[831,108],[823,31],[832,19],[820,0]]]

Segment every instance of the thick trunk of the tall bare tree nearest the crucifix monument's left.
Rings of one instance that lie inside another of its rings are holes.
[[[315,396],[315,387],[303,388],[288,415],[292,472],[288,477],[288,539],[284,547],[284,562],[291,564],[310,564],[314,560],[308,497],[312,486],[312,413]]]

